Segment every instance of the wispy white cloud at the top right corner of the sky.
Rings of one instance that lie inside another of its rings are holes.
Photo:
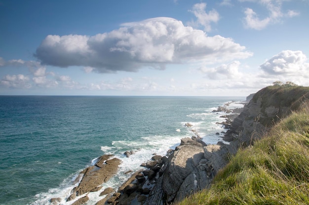
[[[270,24],[279,23],[283,17],[292,18],[300,13],[294,10],[288,10],[286,13],[282,11],[282,3],[285,0],[238,0],[240,2],[250,1],[257,2],[265,6],[269,15],[264,19],[259,18],[258,14],[252,8],[246,8],[244,11],[244,25],[249,29],[261,30]]]

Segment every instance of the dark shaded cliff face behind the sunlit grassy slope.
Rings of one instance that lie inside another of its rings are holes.
[[[271,86],[258,91],[234,119],[228,132],[236,140],[232,144],[249,146],[261,139],[278,120],[297,110],[309,98],[307,87]]]

